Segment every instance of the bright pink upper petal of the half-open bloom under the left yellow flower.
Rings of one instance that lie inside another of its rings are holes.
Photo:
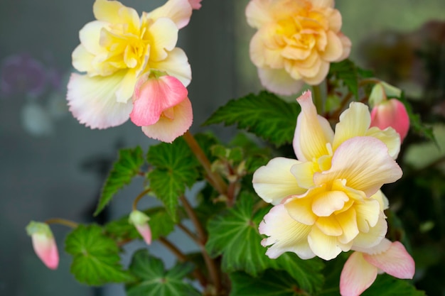
[[[134,87],[133,111],[130,118],[136,126],[151,126],[159,121],[163,111],[187,98],[183,84],[171,76],[149,78],[144,75]]]

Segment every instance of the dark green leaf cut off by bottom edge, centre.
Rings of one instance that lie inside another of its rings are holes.
[[[294,278],[283,271],[266,270],[257,278],[246,273],[231,273],[230,296],[299,296],[308,295],[296,286]]]

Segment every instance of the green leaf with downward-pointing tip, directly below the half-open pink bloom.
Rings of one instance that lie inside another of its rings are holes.
[[[150,188],[165,204],[168,214],[176,220],[178,197],[186,192],[186,187],[191,187],[198,180],[198,160],[182,138],[177,138],[171,144],[151,146],[147,160],[154,166],[147,176]]]

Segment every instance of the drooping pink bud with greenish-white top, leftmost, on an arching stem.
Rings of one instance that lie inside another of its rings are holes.
[[[26,232],[33,241],[34,252],[38,258],[50,269],[57,269],[59,253],[53,232],[48,224],[31,221],[26,226]]]

